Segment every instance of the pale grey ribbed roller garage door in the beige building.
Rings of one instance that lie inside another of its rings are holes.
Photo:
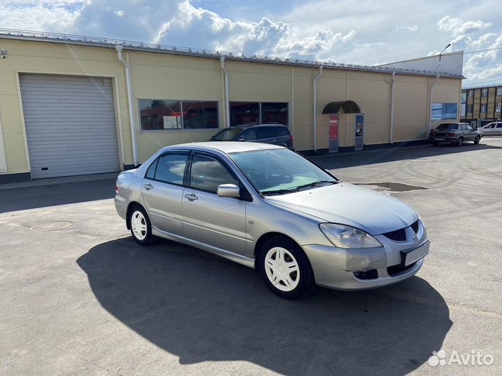
[[[119,171],[112,79],[20,75],[31,178]]]

